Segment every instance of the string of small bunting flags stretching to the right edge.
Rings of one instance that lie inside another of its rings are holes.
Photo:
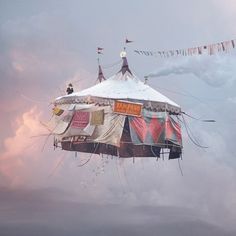
[[[236,39],[227,40],[219,43],[213,43],[204,46],[185,48],[185,49],[173,49],[166,51],[144,51],[134,50],[139,55],[144,56],[160,56],[162,58],[176,57],[176,56],[195,56],[195,55],[214,55],[221,52],[229,52],[236,47]]]

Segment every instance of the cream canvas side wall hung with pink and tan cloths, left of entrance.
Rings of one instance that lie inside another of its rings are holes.
[[[125,116],[114,114],[110,107],[103,109],[97,107],[97,110],[95,106],[80,106],[80,108],[80,110],[67,111],[67,115],[62,116],[61,119],[55,116],[57,119],[53,120],[52,133],[58,135],[58,140],[87,136],[88,142],[120,146]]]

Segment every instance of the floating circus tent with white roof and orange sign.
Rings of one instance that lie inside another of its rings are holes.
[[[180,158],[181,108],[140,81],[122,57],[121,70],[98,84],[54,101],[49,127],[55,147],[120,158]]]

